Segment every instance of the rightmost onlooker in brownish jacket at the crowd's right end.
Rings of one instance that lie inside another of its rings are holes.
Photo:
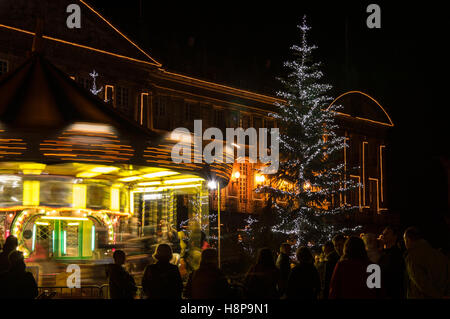
[[[443,298],[450,295],[450,263],[440,251],[434,249],[415,227],[403,235],[406,246],[406,272],[408,299]]]

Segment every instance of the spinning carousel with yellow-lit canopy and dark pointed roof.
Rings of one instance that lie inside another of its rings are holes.
[[[176,164],[175,143],[33,54],[0,79],[2,241],[17,236],[26,257],[95,259],[161,221],[205,226],[206,180],[226,185],[231,164]]]

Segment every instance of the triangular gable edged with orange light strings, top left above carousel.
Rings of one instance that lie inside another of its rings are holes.
[[[69,29],[66,25],[69,16],[66,8],[72,3],[80,6],[81,29]],[[44,18],[45,39],[161,66],[84,0],[0,1],[0,27],[4,25],[16,31],[34,33],[38,16]]]

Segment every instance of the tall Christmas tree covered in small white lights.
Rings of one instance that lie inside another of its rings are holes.
[[[312,60],[316,46],[308,44],[306,17],[298,27],[301,45],[291,48],[295,58],[285,63],[289,73],[280,79],[284,89],[277,94],[286,103],[277,104],[278,113],[271,114],[280,127],[280,167],[267,185],[256,190],[268,194],[270,207],[257,220],[248,220],[248,235],[260,243],[256,237],[264,237],[263,245],[288,239],[295,246],[319,245],[358,228],[343,226],[344,214],[356,207],[340,198],[358,184],[346,178],[345,137],[337,135],[335,123],[339,107],[328,107],[331,86],[322,84],[320,63]]]

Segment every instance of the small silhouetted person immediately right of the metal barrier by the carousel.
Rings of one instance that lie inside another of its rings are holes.
[[[134,299],[136,283],[133,276],[123,267],[126,255],[123,250],[116,250],[113,254],[114,264],[108,265],[109,296],[111,299]]]

